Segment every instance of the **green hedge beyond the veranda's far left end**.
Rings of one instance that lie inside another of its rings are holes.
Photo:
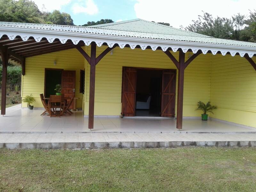
[[[0,66],[0,88],[2,88],[2,70],[3,67]],[[21,84],[21,72],[22,69],[19,66],[8,66],[7,67],[7,88],[14,91],[15,85],[19,86]]]

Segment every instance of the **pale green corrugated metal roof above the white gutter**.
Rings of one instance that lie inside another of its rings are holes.
[[[0,27],[1,26],[256,47],[256,43],[213,38],[142,19],[120,21],[88,27],[13,22],[0,22]]]

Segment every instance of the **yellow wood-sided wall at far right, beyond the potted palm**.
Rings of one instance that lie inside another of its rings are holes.
[[[210,99],[219,107],[211,116],[255,127],[256,71],[240,56],[211,57]]]

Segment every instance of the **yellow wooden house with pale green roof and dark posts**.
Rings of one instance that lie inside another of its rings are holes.
[[[68,88],[90,129],[93,116],[176,117],[181,129],[182,118],[201,116],[199,100],[218,106],[211,118],[256,127],[256,43],[141,19],[89,27],[0,22],[0,36],[2,98],[12,60],[23,69],[21,96],[32,93],[38,108],[39,94],[54,94],[63,72],[73,72]]]

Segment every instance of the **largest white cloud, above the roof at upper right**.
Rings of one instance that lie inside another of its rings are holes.
[[[202,11],[212,14],[213,17],[231,18],[236,13],[249,14],[253,11],[255,0],[136,0],[134,5],[137,18],[155,22],[167,22],[171,26],[180,28],[197,20]]]

